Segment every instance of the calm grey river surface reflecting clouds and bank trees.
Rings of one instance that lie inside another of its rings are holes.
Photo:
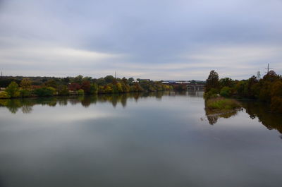
[[[0,186],[282,186],[282,116],[201,92],[0,100]]]

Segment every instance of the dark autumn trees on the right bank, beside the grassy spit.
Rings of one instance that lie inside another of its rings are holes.
[[[255,76],[247,80],[219,79],[216,71],[211,71],[205,85],[205,99],[216,97],[257,99],[268,102],[271,111],[282,113],[282,77],[269,71],[262,79]]]

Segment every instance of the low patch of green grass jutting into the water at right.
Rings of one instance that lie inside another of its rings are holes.
[[[231,109],[238,109],[241,107],[241,104],[235,99],[216,97],[216,98],[207,99],[206,107],[207,109],[216,110],[216,111],[227,111]]]

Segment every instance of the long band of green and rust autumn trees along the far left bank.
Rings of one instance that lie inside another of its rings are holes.
[[[54,95],[97,95],[103,93],[155,92],[173,90],[161,81],[134,78],[1,78],[0,98],[46,97]]]

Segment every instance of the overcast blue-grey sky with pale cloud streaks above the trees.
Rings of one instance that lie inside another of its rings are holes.
[[[0,0],[4,76],[282,74],[282,0]]]

